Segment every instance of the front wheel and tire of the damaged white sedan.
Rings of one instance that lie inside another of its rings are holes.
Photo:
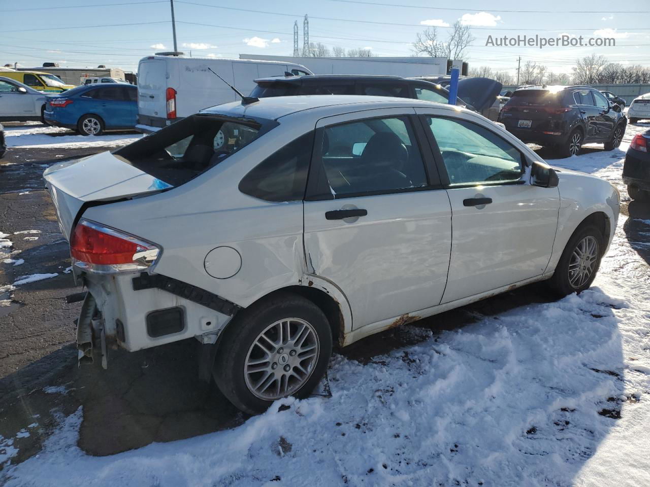
[[[601,265],[603,240],[603,234],[593,225],[585,225],[573,233],[549,281],[558,296],[580,293],[591,286]]]

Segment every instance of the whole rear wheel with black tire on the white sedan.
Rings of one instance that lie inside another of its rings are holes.
[[[213,377],[248,414],[273,401],[304,398],[322,378],[332,347],[330,323],[315,304],[278,293],[242,310],[221,339]]]

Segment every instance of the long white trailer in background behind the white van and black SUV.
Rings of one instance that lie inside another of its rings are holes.
[[[310,58],[256,54],[240,54],[239,58],[297,62],[309,68],[316,75],[396,75],[409,78],[417,76],[443,76],[447,74],[447,58]],[[462,64],[461,61],[454,61],[454,66],[458,63]]]

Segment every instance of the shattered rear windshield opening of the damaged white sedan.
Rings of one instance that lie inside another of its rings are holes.
[[[159,179],[158,189],[179,186],[213,168],[278,125],[272,120],[196,114],[114,151]]]

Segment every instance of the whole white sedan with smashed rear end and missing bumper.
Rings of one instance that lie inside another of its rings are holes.
[[[81,362],[194,337],[249,413],[307,395],[333,342],[529,282],[588,288],[619,214],[612,184],[488,119],[389,97],[214,106],[45,180],[88,289]]]

